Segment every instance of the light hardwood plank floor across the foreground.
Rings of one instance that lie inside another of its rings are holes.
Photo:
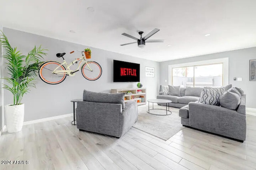
[[[72,117],[25,125],[0,137],[0,170],[255,170],[256,116],[244,143],[184,128],[164,141],[131,128],[122,138],[80,132]]]

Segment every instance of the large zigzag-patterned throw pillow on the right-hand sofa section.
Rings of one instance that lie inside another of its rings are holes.
[[[199,103],[220,106],[220,97],[224,91],[224,88],[204,87]]]

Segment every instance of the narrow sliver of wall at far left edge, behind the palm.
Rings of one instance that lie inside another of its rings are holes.
[[[0,30],[3,30],[2,25],[0,25]],[[4,64],[3,64],[3,56],[2,56],[2,46],[0,43],[0,131],[2,130],[2,127],[4,126],[4,90],[2,88],[3,84],[3,70],[4,70]]]

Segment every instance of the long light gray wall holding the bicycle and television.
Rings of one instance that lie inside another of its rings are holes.
[[[84,45],[6,27],[4,27],[4,33],[8,37],[10,44],[13,47],[18,47],[18,50],[22,51],[23,54],[27,54],[34,45],[42,45],[42,47],[47,48],[49,51],[45,61],[62,62],[62,59],[56,57],[56,53],[65,52],[64,58],[70,63],[75,58],[80,57],[80,53],[69,54],[70,51],[82,51],[84,48],[88,48]],[[86,37],[81,38],[86,39]],[[102,66],[102,76],[96,81],[89,81],[79,71],[76,72],[74,77],[68,76],[64,82],[56,85],[46,84],[38,78],[36,88],[32,88],[31,92],[25,95],[22,100],[22,103],[25,104],[24,121],[73,113],[73,105],[70,100],[82,98],[84,89],[93,92],[110,92],[110,89],[113,88],[135,88],[136,82],[113,82],[113,60],[139,63],[140,82],[143,84],[143,87],[147,88],[147,98],[156,98],[160,81],[160,63],[93,47],[89,48],[92,50],[91,60],[98,62]],[[145,76],[145,66],[155,68],[155,77]],[[77,65],[74,65],[71,68],[75,69],[76,67]],[[12,95],[10,92],[4,91],[4,94],[4,104],[11,104]]]

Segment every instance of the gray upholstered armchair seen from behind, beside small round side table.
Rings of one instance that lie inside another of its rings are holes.
[[[80,131],[91,131],[121,137],[138,119],[135,101],[124,105],[124,94],[95,93],[84,90],[77,102],[76,124]]]

